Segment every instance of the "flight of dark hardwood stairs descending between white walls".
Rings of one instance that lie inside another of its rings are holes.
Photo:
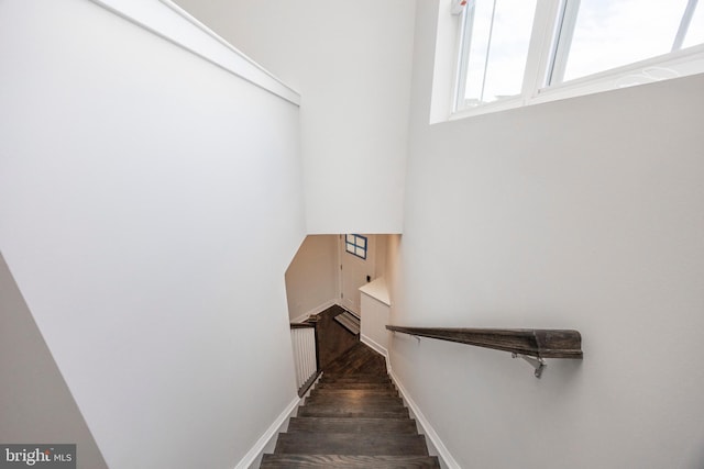
[[[326,368],[261,468],[440,468],[384,358],[358,343]]]

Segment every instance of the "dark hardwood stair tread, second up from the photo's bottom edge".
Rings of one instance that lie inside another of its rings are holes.
[[[424,435],[391,433],[280,433],[275,454],[428,456]]]

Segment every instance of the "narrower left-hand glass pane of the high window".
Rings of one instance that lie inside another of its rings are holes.
[[[470,7],[468,104],[520,94],[535,12],[536,0],[476,0]]]

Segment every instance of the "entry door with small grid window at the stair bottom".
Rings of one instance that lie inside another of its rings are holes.
[[[360,314],[360,287],[374,279],[376,236],[340,235],[340,304]]]

